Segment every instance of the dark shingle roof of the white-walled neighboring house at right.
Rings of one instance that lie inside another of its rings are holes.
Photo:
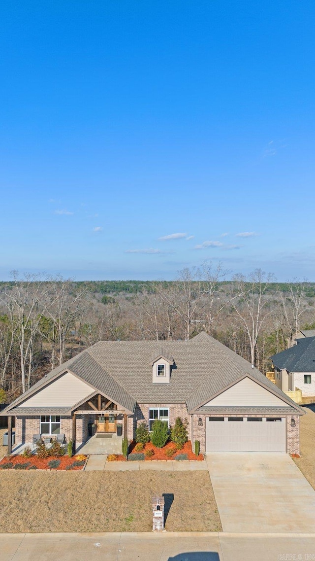
[[[315,372],[315,337],[297,339],[297,344],[270,357],[280,370]]]

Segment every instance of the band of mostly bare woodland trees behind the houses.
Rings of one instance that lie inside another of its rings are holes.
[[[188,340],[205,331],[265,373],[272,354],[315,328],[315,283],[276,283],[261,269],[228,274],[210,261],[168,282],[13,271],[0,284],[0,402],[101,340]]]

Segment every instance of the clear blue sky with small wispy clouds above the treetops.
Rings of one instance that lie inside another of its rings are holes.
[[[173,279],[209,259],[315,281],[314,16],[4,0],[0,279]]]

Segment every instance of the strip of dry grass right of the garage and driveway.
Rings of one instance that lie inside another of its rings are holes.
[[[301,458],[293,458],[304,477],[315,489],[315,407],[305,407],[306,415],[300,417]]]

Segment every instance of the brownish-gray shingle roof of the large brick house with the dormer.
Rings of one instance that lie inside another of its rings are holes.
[[[10,409],[18,404],[22,407],[30,393],[67,370],[131,412],[136,402],[186,403],[191,411],[244,376],[299,409],[259,370],[204,332],[189,341],[163,341],[164,353],[174,360],[170,383],[154,384],[150,358],[160,355],[160,349],[156,341],[100,341],[54,369],[16,399]]]

